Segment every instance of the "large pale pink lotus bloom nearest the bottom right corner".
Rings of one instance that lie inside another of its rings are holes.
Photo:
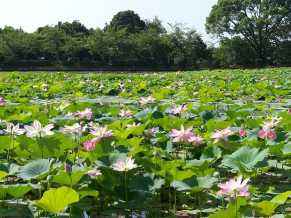
[[[246,178],[242,182],[242,175],[238,176],[237,181],[235,179],[229,179],[226,184],[217,184],[218,187],[222,188],[222,190],[216,192],[216,194],[225,194],[232,197],[235,201],[238,196],[248,196],[250,193],[248,192],[248,186],[246,183],[250,180],[250,178]]]

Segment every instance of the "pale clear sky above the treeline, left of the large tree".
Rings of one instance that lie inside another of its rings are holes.
[[[217,0],[0,0],[0,28],[5,25],[34,32],[58,21],[79,20],[87,28],[103,28],[119,11],[132,10],[142,19],[158,16],[163,26],[187,23],[210,40],[204,24]]]

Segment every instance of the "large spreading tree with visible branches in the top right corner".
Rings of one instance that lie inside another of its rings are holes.
[[[243,36],[265,62],[272,44],[291,36],[291,0],[218,0],[205,27],[220,37]]]

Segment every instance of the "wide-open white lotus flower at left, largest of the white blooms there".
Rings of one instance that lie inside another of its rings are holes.
[[[24,128],[27,131],[26,136],[27,137],[46,137],[47,135],[53,135],[54,132],[50,131],[50,129],[52,129],[54,127],[53,124],[48,124],[45,127],[42,127],[40,122],[35,120],[33,122],[33,125],[25,125]]]

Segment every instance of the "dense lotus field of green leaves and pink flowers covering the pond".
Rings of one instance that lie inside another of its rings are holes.
[[[291,69],[0,74],[0,217],[291,218]]]

